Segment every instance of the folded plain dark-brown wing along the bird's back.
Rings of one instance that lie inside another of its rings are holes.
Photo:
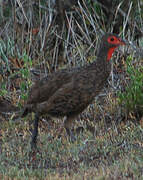
[[[30,89],[27,104],[42,103],[48,99],[60,88],[63,84],[70,82],[72,73],[60,71],[49,74],[42,80],[37,81]]]

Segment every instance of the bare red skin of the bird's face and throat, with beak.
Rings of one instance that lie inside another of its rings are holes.
[[[108,54],[107,54],[107,61],[109,61],[111,59],[113,52],[115,51],[115,49],[118,46],[126,45],[124,40],[122,40],[121,38],[114,36],[114,35],[109,36],[107,38],[107,42],[110,45],[110,48],[109,48]]]

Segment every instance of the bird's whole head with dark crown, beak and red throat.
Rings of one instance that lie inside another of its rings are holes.
[[[121,39],[118,35],[107,33],[102,37],[102,46],[106,47],[107,52],[107,61],[112,57],[113,52],[118,46],[126,45],[125,40]]]

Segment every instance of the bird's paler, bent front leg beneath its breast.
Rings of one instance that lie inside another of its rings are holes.
[[[72,142],[74,142],[76,140],[76,137],[73,135],[73,132],[70,129],[72,121],[73,121],[73,118],[65,117],[64,119],[65,119],[64,120],[64,127],[66,129],[66,132],[67,132],[68,136],[70,137],[70,140]]]

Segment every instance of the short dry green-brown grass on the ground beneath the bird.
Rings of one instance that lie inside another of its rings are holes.
[[[46,128],[47,126],[47,128]],[[5,122],[1,130],[0,174],[4,179],[141,179],[143,128],[131,121],[94,137],[84,131],[70,143],[65,131],[40,123],[38,150],[30,148],[29,123]],[[9,127],[9,128],[7,128]],[[48,130],[47,130],[48,129]]]

